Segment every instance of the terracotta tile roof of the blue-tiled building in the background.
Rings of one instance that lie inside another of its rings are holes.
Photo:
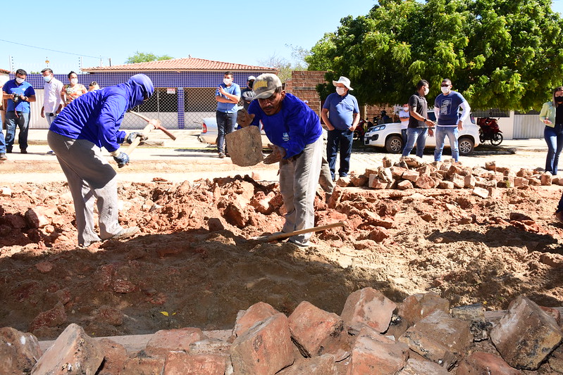
[[[99,71],[139,71],[139,70],[267,70],[277,72],[276,68],[265,66],[225,63],[223,61],[205,60],[203,58],[173,58],[171,60],[149,61],[148,63],[123,64],[113,66],[97,66],[82,68],[83,72]]]

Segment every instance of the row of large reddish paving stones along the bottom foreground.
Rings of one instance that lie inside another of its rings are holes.
[[[561,312],[522,296],[504,312],[450,309],[435,293],[397,305],[364,288],[340,316],[307,301],[289,317],[256,303],[239,312],[233,330],[158,331],[137,350],[90,338],[76,324],[41,344],[4,328],[0,374],[563,374]]]

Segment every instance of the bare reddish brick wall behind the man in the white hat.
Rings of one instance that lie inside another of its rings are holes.
[[[316,85],[326,83],[325,73],[326,72],[321,70],[294,70],[291,72],[291,80],[285,82],[285,91],[297,96],[302,101],[309,101],[309,107],[311,107],[317,115],[321,115],[321,99],[316,92]],[[354,87],[354,84],[352,84],[352,87]],[[354,94],[353,91],[352,94]],[[360,106],[359,108],[361,118],[366,120],[371,120],[374,116],[379,116],[381,110],[386,110],[387,115],[392,117],[392,105]],[[398,122],[399,117],[395,116],[394,120]]]

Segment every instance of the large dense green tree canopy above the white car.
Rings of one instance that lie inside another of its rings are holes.
[[[433,97],[450,78],[472,108],[530,110],[563,85],[563,21],[550,0],[380,0],[340,24],[306,61],[328,82],[348,77],[361,103],[404,103],[421,79]]]

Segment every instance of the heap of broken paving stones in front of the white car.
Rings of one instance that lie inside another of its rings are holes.
[[[362,174],[352,172],[350,177],[340,177],[338,186],[368,186],[372,189],[473,189],[476,196],[488,198],[497,187],[528,189],[529,186],[563,184],[549,172],[521,168],[514,172],[507,167],[497,167],[495,162],[485,163],[485,168],[464,166],[446,160],[426,163],[418,156],[405,156],[393,163],[383,158],[383,166],[367,169]]]

